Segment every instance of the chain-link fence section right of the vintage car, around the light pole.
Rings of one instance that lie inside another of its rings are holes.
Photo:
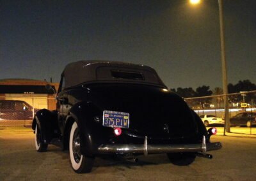
[[[185,98],[186,103],[200,116],[205,126],[224,126],[225,109],[224,96],[204,96]],[[236,132],[236,127],[244,134],[256,134],[256,91],[243,91],[227,94],[230,131]]]

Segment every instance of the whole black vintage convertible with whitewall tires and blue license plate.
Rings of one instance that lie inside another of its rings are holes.
[[[218,150],[202,120],[177,94],[168,91],[148,66],[108,61],[68,64],[60,81],[56,111],[33,119],[35,147],[49,144],[70,153],[72,168],[88,173],[96,156],[136,157],[166,153],[177,165]]]

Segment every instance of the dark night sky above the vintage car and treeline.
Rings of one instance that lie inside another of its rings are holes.
[[[223,0],[228,82],[256,83],[256,1]],[[0,0],[0,79],[59,82],[68,62],[152,66],[169,88],[222,87],[217,0]]]

